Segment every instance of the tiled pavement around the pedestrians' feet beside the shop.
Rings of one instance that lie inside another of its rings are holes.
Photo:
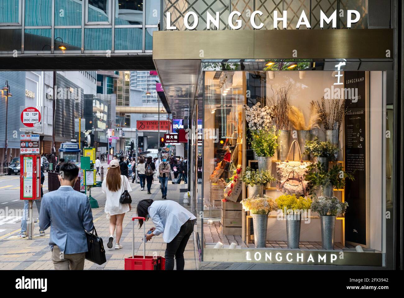
[[[170,181],[169,181],[170,182]],[[123,222],[122,238],[120,240],[123,246],[120,250],[106,247],[109,236],[108,226],[109,219],[104,213],[105,194],[102,193],[101,187],[95,187],[91,191],[91,195],[97,199],[99,208],[93,209],[94,225],[99,236],[103,238],[105,255],[107,262],[102,265],[85,261],[84,269],[92,270],[123,270],[124,258],[132,255],[132,217],[136,216],[137,202],[150,198],[153,200],[161,200],[161,191],[159,183],[154,183],[151,187],[151,195],[147,191],[140,191],[140,184],[130,183],[132,187],[132,210],[126,213]],[[182,205],[183,195],[187,185],[168,184],[167,198],[177,201]],[[180,190],[183,189],[183,192]],[[189,208],[189,206],[184,206]],[[153,222],[149,220],[146,223],[146,231],[153,226]],[[47,229],[45,236],[39,236],[38,223],[35,224],[34,237],[32,240],[28,238],[17,238],[16,233],[13,235],[5,235],[0,239],[0,270],[49,270],[53,269],[53,263],[50,259],[50,248],[48,246],[50,229]],[[114,234],[115,237],[115,234]],[[143,255],[143,227],[138,229],[135,222],[135,254]],[[115,246],[115,242],[114,242]],[[146,255],[164,256],[166,243],[163,242],[162,236],[153,237],[151,241],[146,243]],[[185,270],[195,270],[198,254],[195,254],[194,237],[189,238],[187,247],[184,252]]]

